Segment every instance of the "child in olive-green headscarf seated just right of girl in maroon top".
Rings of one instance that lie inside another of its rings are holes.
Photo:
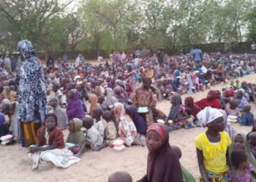
[[[69,147],[69,150],[72,151],[73,154],[77,154],[83,141],[86,141],[81,127],[83,127],[83,122],[80,119],[75,118],[69,121],[69,135],[67,136],[66,143],[75,144],[75,146]]]

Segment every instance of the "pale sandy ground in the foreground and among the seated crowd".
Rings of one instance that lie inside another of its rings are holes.
[[[255,75],[239,78],[241,81],[255,83]],[[218,84],[212,87],[214,90],[221,90],[225,84]],[[195,100],[205,98],[207,92],[197,92],[192,95]],[[184,98],[187,95],[182,95]],[[89,107],[89,104],[86,103]],[[168,114],[170,101],[157,103],[157,108]],[[255,104],[252,103],[252,112],[256,115]],[[232,124],[237,132],[245,134],[252,130],[252,127],[241,127],[239,124]],[[204,128],[193,128],[189,130],[176,130],[170,133],[170,144],[181,148],[183,155],[181,164],[189,170],[198,180],[200,171],[197,165],[197,158],[194,140],[197,135],[203,132]],[[64,131],[64,139],[67,138],[67,130]],[[146,147],[132,146],[117,153],[109,147],[102,151],[88,151],[81,155],[81,161],[72,165],[67,170],[54,167],[45,172],[31,171],[27,156],[28,149],[22,148],[20,144],[14,146],[0,146],[0,174],[1,181],[108,181],[108,176],[116,171],[125,170],[132,175],[133,181],[139,180],[146,174],[146,159],[148,150]]]

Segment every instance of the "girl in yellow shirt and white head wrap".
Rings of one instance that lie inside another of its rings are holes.
[[[229,158],[231,140],[224,132],[223,115],[216,108],[206,107],[197,114],[197,118],[204,127],[208,127],[206,132],[195,138],[200,181],[228,181],[228,171],[235,171]]]

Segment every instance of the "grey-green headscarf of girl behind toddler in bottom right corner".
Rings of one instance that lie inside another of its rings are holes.
[[[244,144],[245,144],[245,148],[244,148],[244,151],[246,151],[246,153],[249,155],[249,162],[251,163],[251,165],[253,166],[256,166],[256,160],[255,160],[255,157],[253,156],[251,150],[249,149],[249,143],[247,141],[247,138],[246,138],[246,135],[244,135],[243,133],[240,133],[240,132],[236,132],[233,137],[232,137],[232,143],[231,145],[229,146],[229,153],[230,153],[230,157],[231,157],[231,154],[233,151],[235,151],[234,149],[234,146],[233,146],[233,141],[234,139],[236,138],[237,135],[241,135],[244,139]],[[256,178],[256,168],[255,170],[251,171],[251,175]]]

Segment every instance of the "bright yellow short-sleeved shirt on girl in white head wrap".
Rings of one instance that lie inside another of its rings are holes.
[[[218,145],[208,141],[206,132],[201,133],[195,138],[195,147],[203,151],[203,164],[207,173],[222,174],[229,170],[227,165],[226,153],[227,147],[230,146],[231,140],[227,132],[220,132]]]

